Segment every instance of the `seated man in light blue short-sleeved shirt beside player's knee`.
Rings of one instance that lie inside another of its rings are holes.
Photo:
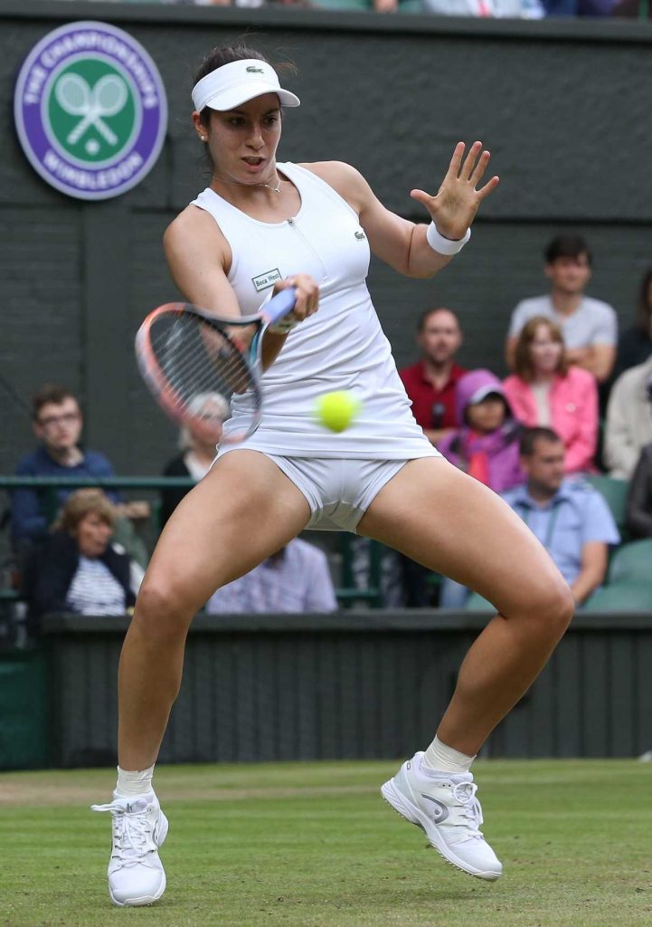
[[[582,604],[604,581],[608,545],[621,536],[599,492],[564,478],[564,445],[551,428],[525,428],[520,437],[523,486],[503,499],[520,515],[558,565]]]

